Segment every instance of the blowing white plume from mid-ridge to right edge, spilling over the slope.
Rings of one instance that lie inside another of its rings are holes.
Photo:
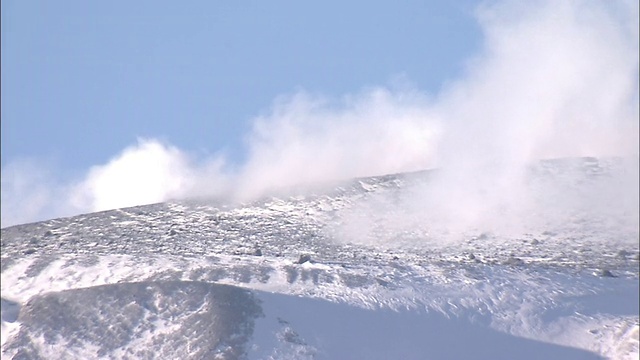
[[[482,52],[434,99],[373,89],[338,105],[304,95],[280,101],[251,137],[244,179],[261,181],[240,191],[438,167],[427,186],[400,203],[375,199],[344,214],[350,221],[343,238],[379,241],[366,234],[379,225],[373,219],[390,216],[394,207],[403,219],[392,221],[397,233],[425,222],[425,233],[434,226],[521,233],[584,212],[609,220],[631,214],[633,226],[637,14],[633,2],[481,7]],[[540,164],[567,171],[555,183],[534,178],[541,159],[585,156],[605,159],[603,166],[610,157],[627,160],[609,164],[622,169],[588,189],[576,184],[589,164]],[[416,222],[398,225],[407,218]]]

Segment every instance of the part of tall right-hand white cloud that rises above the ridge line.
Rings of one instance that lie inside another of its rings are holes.
[[[483,53],[438,104],[447,140],[518,162],[637,152],[638,40],[625,19],[600,2],[523,4],[480,11]]]

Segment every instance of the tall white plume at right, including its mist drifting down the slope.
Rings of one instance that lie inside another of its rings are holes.
[[[528,173],[545,158],[631,156],[631,169],[617,174],[627,193],[608,201],[637,199],[637,3],[506,2],[478,14],[484,50],[436,106],[446,126],[428,197],[434,213],[492,228],[607,201],[579,192],[538,201]]]

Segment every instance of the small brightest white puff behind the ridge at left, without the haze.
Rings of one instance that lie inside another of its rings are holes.
[[[139,139],[107,164],[91,168],[71,189],[78,208],[100,211],[221,192],[222,159],[196,164],[180,149]]]

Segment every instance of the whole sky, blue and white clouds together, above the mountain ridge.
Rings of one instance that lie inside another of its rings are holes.
[[[2,226],[503,154],[637,152],[637,8],[3,1]]]

